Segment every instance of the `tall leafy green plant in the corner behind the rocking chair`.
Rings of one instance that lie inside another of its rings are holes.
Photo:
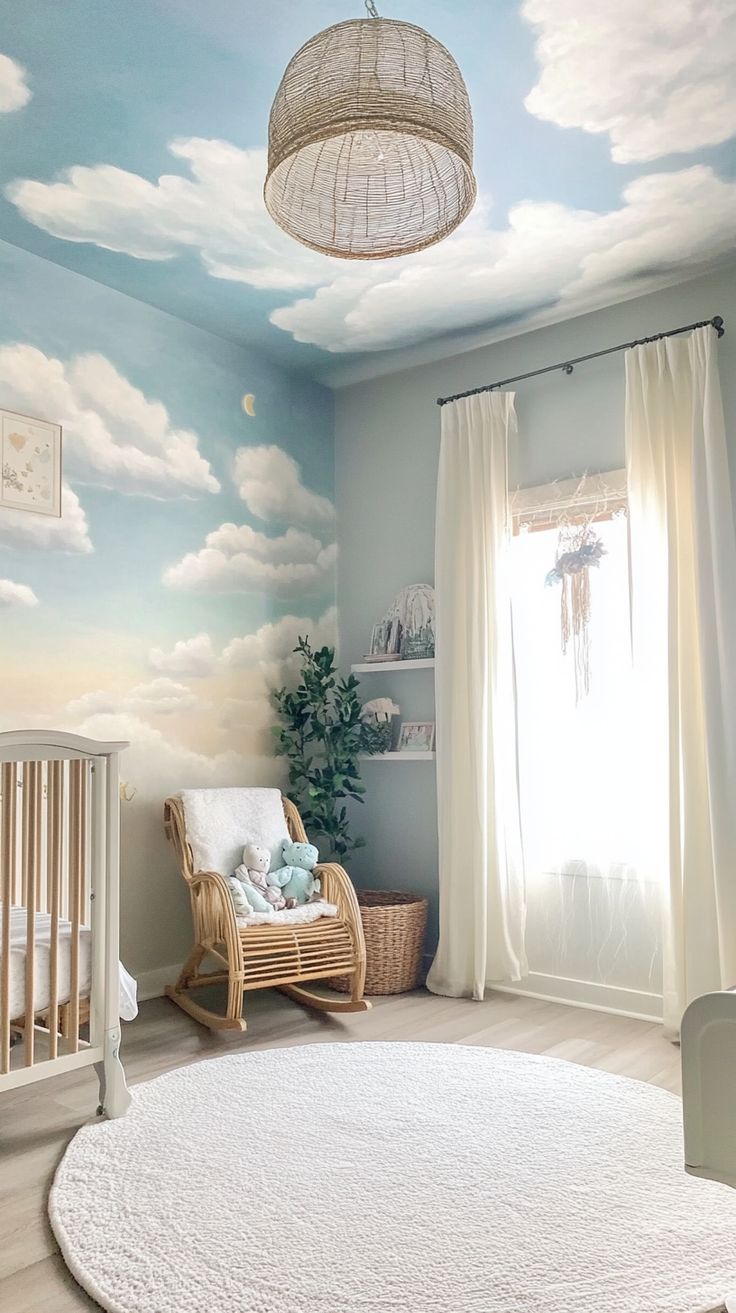
[[[274,734],[289,760],[289,785],[310,838],[325,860],[344,861],[365,846],[350,834],[348,818],[348,802],[363,801],[358,758],[383,751],[383,735],[362,716],[356,676],[338,676],[333,647],[315,650],[299,638],[294,651],[302,656],[302,679],[294,691],[278,688],[272,695],[281,721]]]

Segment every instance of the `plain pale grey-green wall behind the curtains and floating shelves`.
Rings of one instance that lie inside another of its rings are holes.
[[[440,448],[436,398],[597,351],[663,328],[723,315],[720,341],[736,471],[736,268],[627,301],[447,360],[356,383],[336,394],[338,617],[345,666],[366,651],[371,624],[407,583],[433,580],[434,494]],[[514,478],[521,484],[623,463],[623,357],[521,383]],[[736,605],[736,599],[735,599]],[[432,672],[373,674],[363,695],[391,695],[403,720],[433,716]],[[366,763],[356,827],[358,882],[426,893],[432,940],[437,907],[434,767]],[[539,968],[538,968],[539,969]],[[631,987],[638,987],[631,982]]]

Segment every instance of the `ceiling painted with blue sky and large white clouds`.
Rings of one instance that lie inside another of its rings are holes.
[[[33,22],[16,5],[12,32],[0,22],[0,236],[316,373],[562,318],[735,252],[732,0],[384,8],[453,49],[474,102],[479,202],[441,246],[345,264],[265,211],[270,97],[300,41],[361,12],[342,0],[274,0],[268,13],[150,0],[104,22],[93,0],[63,16],[37,0]],[[159,429],[146,452],[182,486],[206,481],[193,433]],[[151,465],[129,477],[156,495]],[[243,481],[256,502],[257,483],[257,471]]]

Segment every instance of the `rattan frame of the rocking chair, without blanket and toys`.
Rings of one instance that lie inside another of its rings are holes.
[[[289,798],[282,797],[286,827],[295,843],[307,843],[302,818]],[[336,916],[321,916],[308,924],[239,924],[224,877],[216,871],[194,871],[192,848],[186,836],[186,819],[181,798],[167,798],[164,827],[173,843],[181,874],[189,885],[194,947],[176,985],[167,985],[167,995],[197,1022],[213,1031],[244,1031],[243,994],[252,989],[278,987],[306,1007],[323,1012],[365,1012],[370,1003],[363,998],[366,947],[356,890],[348,872],[337,863],[321,863],[315,869],[327,902],[337,906]],[[222,962],[224,969],[201,973],[205,957]],[[350,994],[315,994],[303,981],[328,976],[352,977]],[[197,1003],[190,990],[203,985],[227,985],[224,1015]]]

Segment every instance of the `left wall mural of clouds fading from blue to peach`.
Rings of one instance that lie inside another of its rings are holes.
[[[0,508],[1,727],[130,739],[123,949],[167,965],[167,792],[279,783],[269,692],[335,641],[332,398],[3,243],[0,281],[0,407],[62,423],[66,481],[59,520]]]

